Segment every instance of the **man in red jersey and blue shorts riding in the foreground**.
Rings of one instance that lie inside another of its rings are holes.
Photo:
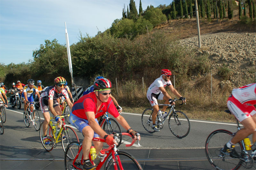
[[[127,133],[133,136],[133,140],[137,140],[137,132],[132,130],[127,121],[121,116],[109,97],[111,94],[111,82],[106,78],[101,78],[93,83],[94,91],[80,97],[72,108],[70,113],[70,123],[75,126],[84,135],[83,140],[83,155],[84,165],[83,169],[90,170],[95,169],[89,160],[89,152],[92,146],[92,138],[104,138],[108,145],[117,144],[112,135],[108,135],[104,130],[100,128],[98,117],[105,112],[109,112],[113,115],[117,122],[120,123]],[[140,140],[140,136],[138,137]],[[93,141],[96,152],[99,153],[102,149],[103,143]]]

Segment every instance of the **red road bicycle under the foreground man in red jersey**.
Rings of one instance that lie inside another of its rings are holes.
[[[118,138],[117,136],[124,136],[124,135],[132,137],[129,133],[122,133],[120,135],[115,134],[115,139]],[[92,140],[105,142],[104,139],[100,139],[100,138],[93,138]],[[132,146],[134,142],[135,141],[132,141],[131,144],[126,144],[125,146],[126,147]],[[139,141],[138,141],[138,145],[140,145]],[[103,158],[101,158],[100,163],[97,165],[96,170],[102,169],[104,164],[105,164],[104,169],[142,170],[140,163],[135,158],[133,158],[131,154],[124,151],[119,151],[116,148],[115,144],[109,146],[107,149],[103,149],[103,151],[105,151],[105,154]],[[82,143],[78,143],[78,142],[70,143],[66,149],[65,157],[64,157],[65,169],[66,170],[83,169],[83,158],[84,157],[82,152]],[[90,154],[89,154],[89,158],[93,164],[93,160]]]

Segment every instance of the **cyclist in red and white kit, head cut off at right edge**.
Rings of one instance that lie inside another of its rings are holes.
[[[227,105],[229,111],[242,123],[244,128],[238,130],[236,135],[223,147],[222,150],[230,152],[232,157],[238,158],[235,144],[252,134],[252,142],[256,141],[256,83],[248,84],[232,90],[228,97]],[[252,157],[255,157],[252,152]]]

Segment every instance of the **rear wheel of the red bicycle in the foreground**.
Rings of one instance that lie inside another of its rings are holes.
[[[73,161],[76,158],[76,154],[78,153],[80,149],[80,143],[78,142],[71,142],[68,144],[66,151],[65,151],[65,156],[64,156],[64,164],[65,164],[65,169],[66,170],[76,170],[73,166]],[[83,151],[81,151],[83,152]],[[80,166],[82,168],[81,160],[82,160],[82,155],[83,153],[79,153],[79,156],[76,159],[75,165]]]

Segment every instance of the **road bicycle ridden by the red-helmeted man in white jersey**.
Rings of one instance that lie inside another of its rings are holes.
[[[177,100],[182,100],[182,99],[177,99],[174,98],[173,102]],[[183,103],[182,103],[183,104]],[[180,104],[180,105],[182,105]],[[186,104],[186,103],[185,103]],[[159,129],[162,129],[164,127],[164,122],[168,120],[169,128],[172,132],[172,134],[178,138],[183,138],[188,135],[189,130],[190,130],[190,123],[188,120],[188,117],[185,113],[181,111],[177,111],[174,109],[175,105],[172,104],[158,104],[159,106],[168,106],[170,108],[170,111],[167,113],[167,115],[164,118],[160,118],[160,115],[156,115],[156,126]],[[153,122],[152,122],[152,113],[153,109],[148,108],[145,109],[141,115],[141,122],[143,127],[149,132],[149,133],[154,133],[155,130],[152,128]]]

